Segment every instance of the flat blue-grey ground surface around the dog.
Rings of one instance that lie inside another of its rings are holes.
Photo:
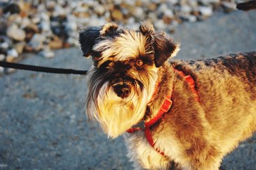
[[[256,12],[214,14],[178,26],[177,58],[256,50]],[[26,54],[22,63],[88,69],[78,48],[56,58]],[[0,77],[0,169],[132,169],[122,137],[108,139],[84,114],[86,77],[17,71]],[[222,169],[256,169],[256,136],[240,144]]]

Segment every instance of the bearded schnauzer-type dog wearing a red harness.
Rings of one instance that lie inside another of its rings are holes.
[[[256,52],[172,61],[179,43],[150,22],[79,33],[92,56],[86,114],[124,135],[134,169],[219,169],[256,130]]]

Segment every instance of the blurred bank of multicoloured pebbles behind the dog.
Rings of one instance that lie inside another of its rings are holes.
[[[115,21],[138,29],[150,20],[157,30],[173,33],[182,22],[207,19],[216,10],[236,10],[235,0],[21,0],[0,1],[0,61],[17,62],[22,52],[54,57],[52,49],[78,46],[77,33],[86,26]],[[12,71],[12,69],[9,69]],[[0,73],[4,68],[0,68]]]

